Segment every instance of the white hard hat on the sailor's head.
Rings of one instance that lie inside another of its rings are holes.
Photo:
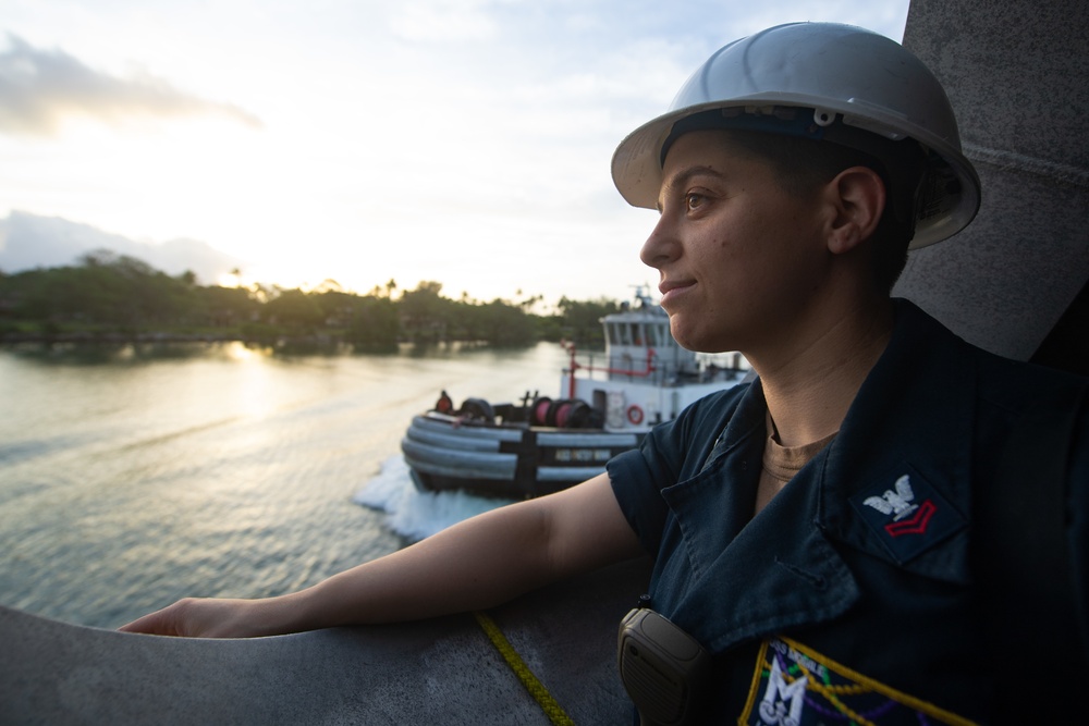
[[[915,139],[928,169],[911,248],[953,236],[979,210],[979,176],[960,151],[956,118],[941,84],[907,49],[877,33],[792,23],[720,49],[688,78],[666,113],[616,148],[612,174],[624,199],[657,207],[663,152],[685,131],[685,124],[674,125],[698,122],[697,115],[720,121],[693,127],[771,131],[864,151],[870,150],[865,143],[870,134]]]

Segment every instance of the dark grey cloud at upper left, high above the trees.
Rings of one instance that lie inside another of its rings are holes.
[[[0,51],[0,133],[56,136],[76,116],[119,125],[133,119],[221,116],[259,128],[260,120],[230,103],[209,101],[138,72],[122,78],[91,69],[60,49],[35,48],[8,34]]]

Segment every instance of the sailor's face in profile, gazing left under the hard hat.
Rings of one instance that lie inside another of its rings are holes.
[[[661,219],[640,257],[660,273],[677,342],[748,353],[790,330],[820,280],[818,195],[787,194],[720,131],[678,138],[662,180]]]

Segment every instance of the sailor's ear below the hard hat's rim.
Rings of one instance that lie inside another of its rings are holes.
[[[842,255],[869,239],[878,229],[885,206],[884,182],[868,167],[844,169],[825,185],[824,200],[830,211],[828,248],[833,255]]]

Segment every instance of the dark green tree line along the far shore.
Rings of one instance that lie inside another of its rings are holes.
[[[537,313],[540,303],[540,296],[484,303],[467,293],[452,299],[433,281],[400,291],[391,280],[366,295],[346,292],[332,280],[310,291],[200,285],[192,272],[171,276],[143,260],[100,249],[70,267],[0,272],[0,341],[155,336],[375,350],[403,342],[524,346],[566,339],[600,345],[600,319],[620,309],[607,298],[563,297],[554,312]]]

